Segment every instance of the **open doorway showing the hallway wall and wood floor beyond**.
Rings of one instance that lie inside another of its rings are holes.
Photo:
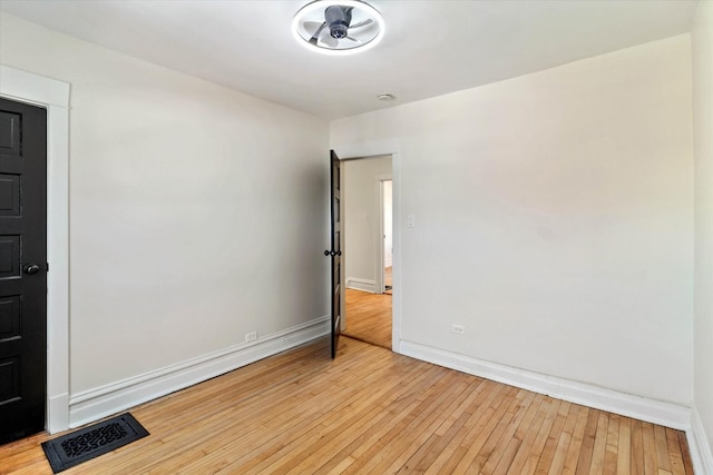
[[[342,160],[342,333],[392,349],[390,155]]]

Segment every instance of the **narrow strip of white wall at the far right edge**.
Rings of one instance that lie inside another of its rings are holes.
[[[713,2],[702,1],[693,30],[695,130],[695,406],[713,473]]]

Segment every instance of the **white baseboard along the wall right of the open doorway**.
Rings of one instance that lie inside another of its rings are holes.
[[[691,408],[540,373],[485,362],[438,348],[401,342],[400,353],[462,373],[545,394],[558,399],[688,431]]]

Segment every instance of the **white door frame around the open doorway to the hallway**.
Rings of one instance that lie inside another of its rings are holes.
[[[401,142],[398,139],[370,141],[363,144],[343,145],[331,147],[340,160],[350,158],[375,157],[379,155],[391,156],[391,169],[393,180],[392,212],[393,222],[393,291],[391,309],[391,350],[401,353]]]

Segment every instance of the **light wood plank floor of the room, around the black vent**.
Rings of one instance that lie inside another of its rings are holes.
[[[150,435],[69,474],[692,474],[682,432],[565,403],[342,337],[131,414]],[[38,435],[0,472],[51,474]]]

